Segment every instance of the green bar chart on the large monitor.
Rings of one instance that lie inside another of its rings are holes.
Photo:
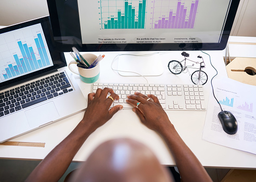
[[[147,0],[101,0],[101,29],[145,29]]]

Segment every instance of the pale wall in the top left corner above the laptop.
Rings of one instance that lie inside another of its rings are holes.
[[[12,25],[47,15],[46,0],[0,0],[0,25]]]

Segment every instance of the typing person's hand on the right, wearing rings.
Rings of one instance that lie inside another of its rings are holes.
[[[165,128],[172,125],[155,95],[148,94],[146,96],[135,92],[134,95],[128,95],[127,98],[126,101],[134,106],[140,102],[137,108],[133,108],[133,111],[149,129],[161,133]],[[150,100],[148,100],[149,98]]]

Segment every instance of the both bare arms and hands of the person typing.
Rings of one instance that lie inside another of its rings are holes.
[[[88,106],[83,119],[77,127],[75,127],[75,129],[65,139],[63,139],[63,141],[57,145],[44,160],[42,160],[26,181],[58,181],[60,179],[68,169],[73,157],[83,145],[87,137],[111,119],[118,110],[122,109],[121,105],[109,109],[112,104],[112,100],[107,98],[108,93],[111,94],[114,100],[119,99],[119,96],[109,88],[105,88],[104,90],[98,89],[96,93],[88,94]],[[152,100],[147,101],[148,98],[151,98]],[[133,108],[133,111],[137,114],[143,124],[162,136],[172,152],[183,181],[212,181],[196,156],[191,152],[176,132],[173,124],[170,122],[167,114],[162,109],[155,95],[145,96],[141,93],[135,92],[134,95],[128,96],[127,102],[134,106],[140,102],[138,108]],[[97,110],[97,113],[94,112],[95,110]],[[106,157],[104,159],[107,160],[108,158]],[[91,159],[88,158],[88,161],[89,160]],[[161,170],[159,173],[161,173]],[[77,175],[78,173],[75,174]],[[80,175],[81,174],[82,173],[80,173]],[[100,174],[100,171],[96,171],[95,174]],[[126,176],[134,175],[131,173],[128,174],[130,175]],[[142,172],[142,174],[144,173]],[[145,175],[146,174],[144,174],[144,176]],[[122,179],[122,181],[129,181],[125,178]],[[166,181],[171,181],[169,180],[171,178],[166,179]],[[98,181],[92,180],[92,182]]]

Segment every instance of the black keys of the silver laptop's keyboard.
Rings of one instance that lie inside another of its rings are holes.
[[[0,93],[0,117],[71,92],[65,72]]]

